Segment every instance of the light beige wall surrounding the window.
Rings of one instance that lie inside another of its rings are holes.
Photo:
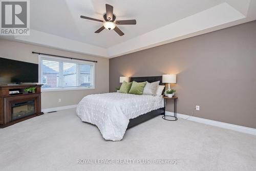
[[[0,39],[0,57],[38,63],[38,55],[32,54],[32,51],[98,61],[95,64],[94,90],[42,92],[42,109],[78,104],[78,102],[88,94],[109,92],[109,59]],[[58,102],[59,98],[61,102]]]

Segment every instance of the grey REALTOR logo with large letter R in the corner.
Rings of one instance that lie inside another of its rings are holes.
[[[29,35],[29,1],[2,0],[1,2],[1,34]]]

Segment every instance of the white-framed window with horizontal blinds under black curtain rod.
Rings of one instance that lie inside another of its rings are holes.
[[[94,89],[94,62],[39,55],[42,90]]]

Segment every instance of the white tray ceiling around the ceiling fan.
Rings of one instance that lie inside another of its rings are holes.
[[[94,33],[102,23],[105,4],[114,6],[116,20],[136,19],[137,25],[119,25]],[[255,0],[33,0],[30,36],[2,38],[56,49],[115,57],[256,19]]]

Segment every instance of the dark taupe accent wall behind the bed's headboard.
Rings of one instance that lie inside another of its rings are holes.
[[[255,20],[112,58],[110,92],[119,76],[168,73],[177,74],[178,113],[191,115],[200,105],[196,117],[256,128]]]

